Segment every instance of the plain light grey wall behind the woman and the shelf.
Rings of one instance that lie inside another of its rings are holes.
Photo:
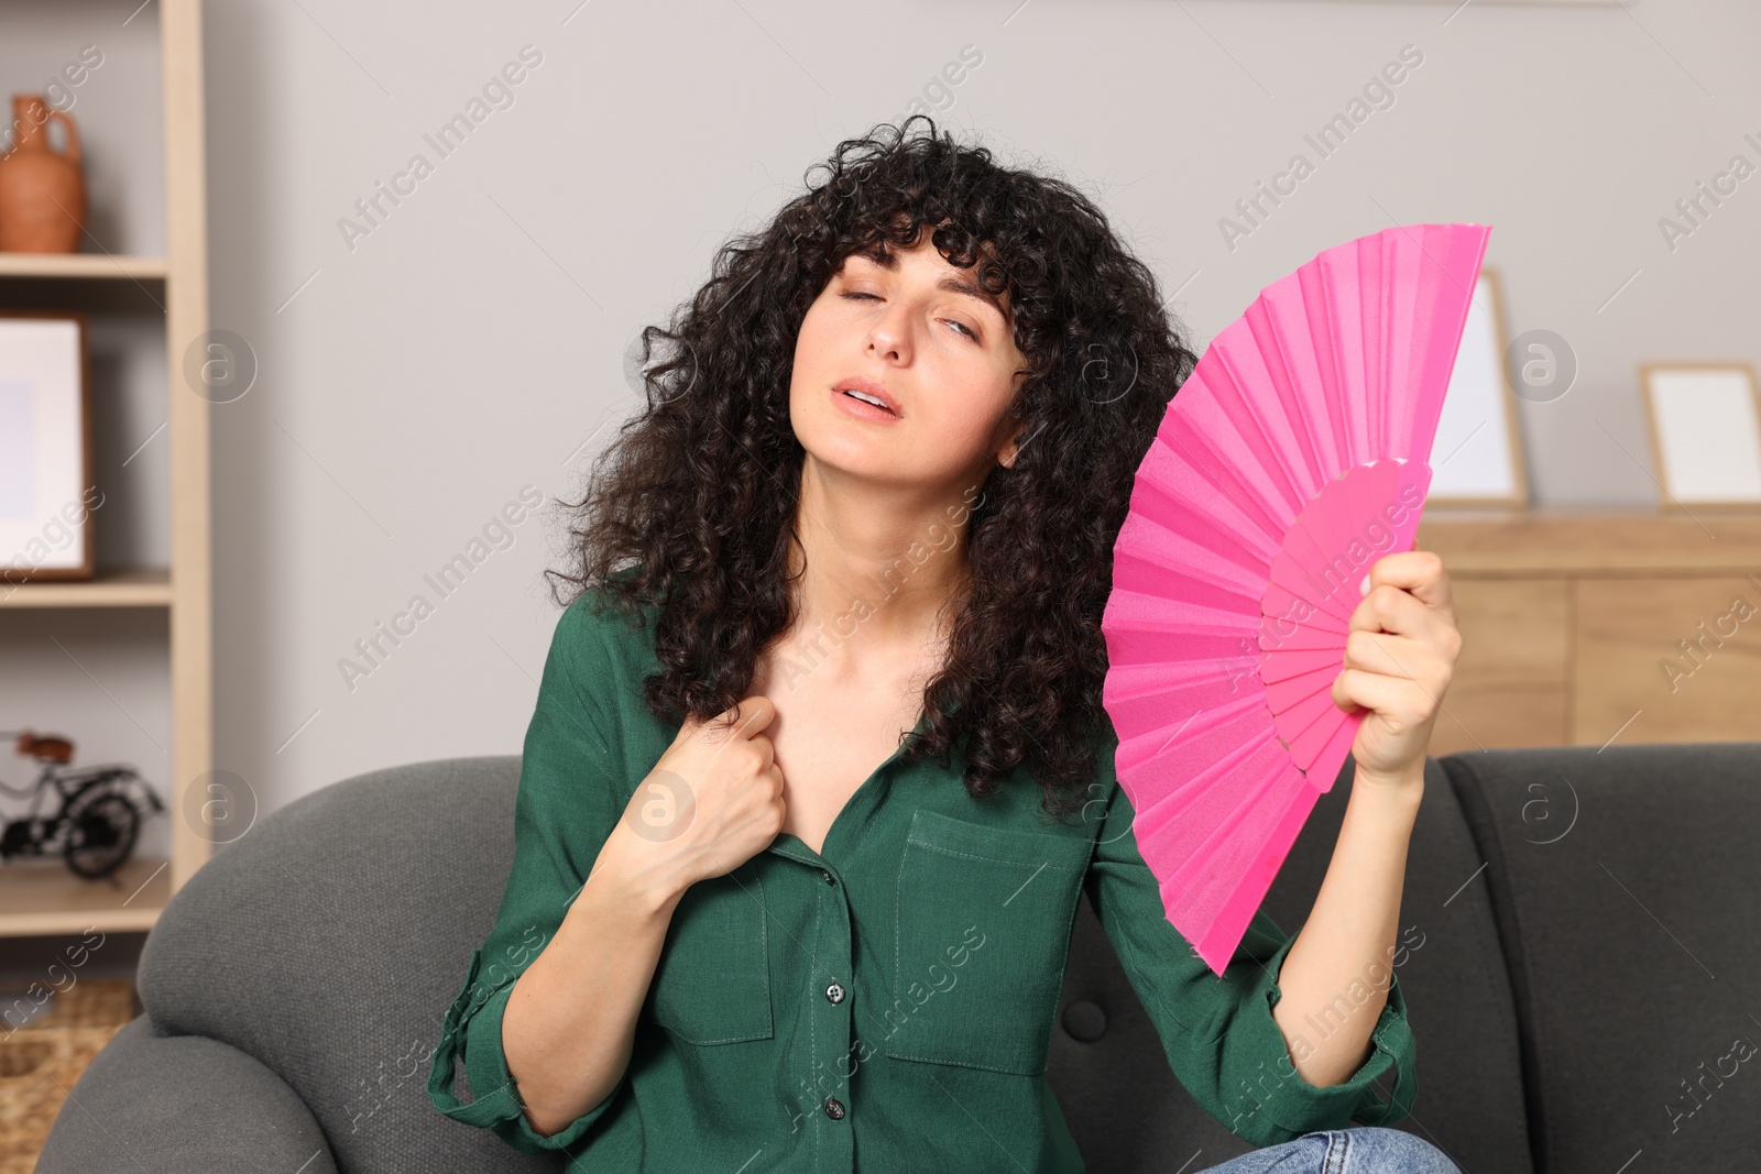
[[[79,40],[116,46],[81,99],[93,136],[102,114],[113,165],[157,183],[153,111],[130,113],[123,84],[150,63],[129,63],[113,5],[62,7],[90,19]],[[21,12],[0,4],[12,88],[77,48],[60,32],[25,46]],[[541,570],[560,565],[560,519],[525,519],[446,598],[424,576],[525,486],[572,496],[595,429],[634,403],[636,331],[838,139],[923,95],[1006,158],[1087,187],[1180,290],[1171,310],[1197,341],[1328,245],[1391,224],[1493,225],[1507,331],[1557,331],[1581,366],[1567,396],[1523,405],[1541,505],[1655,503],[1639,361],[1761,357],[1761,178],[1673,250],[1657,224],[1733,155],[1761,164],[1743,139],[1761,141],[1761,9],[1740,0],[227,0],[206,39],[213,324],[261,363],[215,410],[217,757],[266,810],[387,764],[519,748],[556,618]],[[440,158],[424,136],[521,46],[542,62],[512,104]],[[937,88],[965,46],[983,62]],[[1226,245],[1219,220],[1404,46],[1423,63],[1393,102]],[[129,118],[134,136],[118,132]],[[134,139],[151,150],[125,160]],[[433,172],[345,239],[338,222],[416,153]],[[136,211],[155,199],[99,187],[111,248],[158,246]],[[118,461],[151,426],[136,414],[146,428],[122,429]],[[141,517],[157,468],[134,488]],[[164,533],[141,521],[106,542],[113,558],[150,554]],[[338,662],[417,593],[433,614],[347,683]],[[39,635],[9,657],[44,649],[51,665]],[[92,642],[93,676],[141,713],[92,693],[81,720],[92,759],[164,778],[162,678],[143,646]],[[9,688],[19,716],[69,720]]]

